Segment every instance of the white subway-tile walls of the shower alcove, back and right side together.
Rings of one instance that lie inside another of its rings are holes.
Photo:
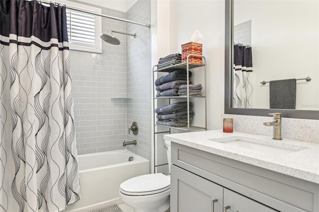
[[[127,13],[102,8],[102,13],[142,23],[151,22],[150,0],[139,0]],[[114,33],[120,45],[103,41],[102,54],[70,51],[78,154],[128,149],[151,160],[151,37],[145,26],[102,18],[102,32]],[[132,97],[132,100],[111,100]],[[132,122],[139,133],[128,135]]]

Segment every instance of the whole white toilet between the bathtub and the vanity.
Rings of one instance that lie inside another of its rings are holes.
[[[170,173],[170,141],[165,141]],[[120,199],[134,212],[167,212],[170,201],[170,176],[162,173],[141,175],[120,185]]]

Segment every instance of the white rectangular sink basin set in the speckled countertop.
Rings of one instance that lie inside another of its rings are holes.
[[[240,148],[255,150],[255,151],[259,151],[263,153],[268,153],[272,155],[285,155],[285,154],[309,149],[309,147],[283,143],[281,141],[273,141],[273,140],[266,140],[266,139],[264,140],[264,139],[257,139],[257,138],[244,137],[244,136],[232,136],[232,137],[208,139],[208,140],[223,143],[223,144],[234,146],[234,147],[240,147]]]

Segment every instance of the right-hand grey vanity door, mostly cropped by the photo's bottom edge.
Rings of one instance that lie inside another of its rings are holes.
[[[224,189],[224,212],[278,212],[252,199]]]

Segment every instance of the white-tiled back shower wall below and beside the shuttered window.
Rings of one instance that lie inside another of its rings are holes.
[[[121,11],[104,8],[103,14],[126,18]],[[102,18],[103,33],[126,31],[126,23]],[[78,154],[123,149],[126,139],[126,36],[121,44],[103,41],[102,54],[70,51]]]

